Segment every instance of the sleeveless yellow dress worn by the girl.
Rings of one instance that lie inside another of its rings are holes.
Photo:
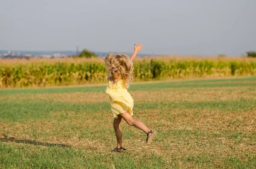
[[[133,116],[132,109],[134,106],[134,100],[130,93],[128,93],[127,89],[123,88],[122,80],[118,80],[114,84],[108,80],[105,92],[109,95],[111,112],[114,118],[118,118],[117,115],[127,111]]]

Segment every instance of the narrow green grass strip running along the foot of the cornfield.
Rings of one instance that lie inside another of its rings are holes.
[[[249,83],[244,83],[248,81]],[[236,83],[232,83],[236,82]],[[237,83],[238,82],[238,83]],[[228,87],[228,86],[256,86],[256,77],[245,77],[237,79],[215,79],[215,80],[184,80],[184,81],[166,81],[158,83],[131,84],[129,91],[154,91],[162,88],[180,88],[180,87]],[[68,87],[68,88],[39,88],[39,89],[0,89],[1,95],[16,93],[72,93],[72,92],[102,92],[106,86],[90,87]]]

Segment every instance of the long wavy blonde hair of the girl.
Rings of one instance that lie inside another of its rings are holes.
[[[107,68],[108,74],[111,73],[112,69],[118,69],[116,72],[119,79],[122,79],[123,88],[128,89],[129,84],[133,81],[133,63],[125,54],[113,54],[109,53],[107,57],[104,58],[105,66]]]

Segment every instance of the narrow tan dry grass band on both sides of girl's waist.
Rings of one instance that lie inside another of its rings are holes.
[[[252,89],[252,90],[248,90]],[[155,103],[163,101],[225,101],[237,99],[256,99],[256,87],[212,87],[212,88],[168,88],[160,91],[129,91],[134,102]],[[102,103],[109,102],[105,92],[73,92],[52,94],[15,94],[0,95],[0,100],[33,100],[33,101],[63,101],[69,103]]]

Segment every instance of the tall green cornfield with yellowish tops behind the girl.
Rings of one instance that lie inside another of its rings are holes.
[[[106,82],[102,59],[0,60],[0,88],[64,86]],[[134,81],[256,75],[256,60],[218,58],[142,58],[134,62]]]

